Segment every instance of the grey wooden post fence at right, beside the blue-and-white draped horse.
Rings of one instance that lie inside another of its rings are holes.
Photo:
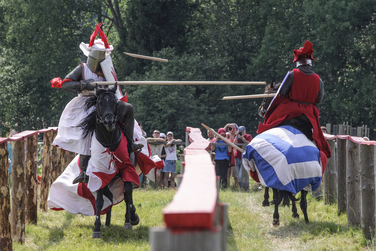
[[[367,239],[374,239],[376,141],[349,135],[324,136],[332,151],[323,177],[324,203],[337,203],[338,213],[347,212],[350,226],[362,228]]]

